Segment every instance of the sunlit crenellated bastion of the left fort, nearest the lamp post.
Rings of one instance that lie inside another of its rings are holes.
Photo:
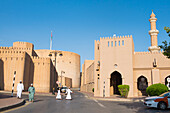
[[[50,75],[50,58],[32,57],[32,59],[34,62],[33,83],[36,91],[50,92],[52,90],[50,82],[53,77]]]

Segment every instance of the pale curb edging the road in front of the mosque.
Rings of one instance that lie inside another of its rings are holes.
[[[83,92],[81,92],[83,93]],[[83,93],[87,96],[89,99],[95,99],[95,100],[102,100],[102,101],[119,101],[119,102],[143,102],[143,99],[125,99],[125,98],[118,98],[118,99],[111,99],[111,98],[97,98],[97,97],[90,97],[88,94]]]

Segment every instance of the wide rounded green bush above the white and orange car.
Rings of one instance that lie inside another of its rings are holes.
[[[168,91],[168,87],[166,87],[164,84],[161,83],[150,85],[146,89],[146,93],[149,96],[159,96],[167,91]]]

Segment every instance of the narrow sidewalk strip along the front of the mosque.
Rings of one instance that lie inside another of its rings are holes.
[[[103,101],[143,102],[145,98],[145,96],[122,98],[120,95],[113,95],[111,97],[94,97],[94,94],[91,92],[84,92],[84,91],[80,91],[80,92],[87,95],[88,98],[90,99],[103,100]]]

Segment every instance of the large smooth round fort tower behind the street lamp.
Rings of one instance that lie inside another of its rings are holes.
[[[35,50],[39,57],[47,57],[49,58],[49,54],[51,52],[51,59],[53,64],[55,63],[55,55],[54,52],[57,52],[56,55],[56,70],[58,72],[58,76],[61,76],[61,71],[63,77],[68,77],[72,79],[72,87],[80,87],[80,55],[67,52],[67,51],[57,51],[57,50]],[[62,56],[60,56],[62,53]],[[55,65],[55,64],[54,64]],[[59,81],[61,82],[61,81]]]

